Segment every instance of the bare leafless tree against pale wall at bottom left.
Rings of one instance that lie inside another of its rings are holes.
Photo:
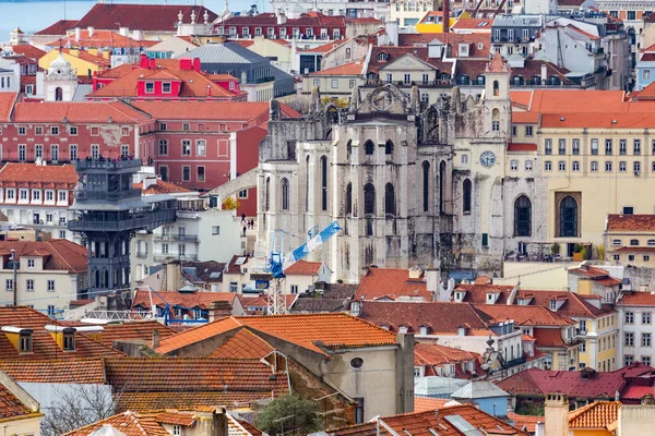
[[[41,421],[43,436],[58,436],[102,421],[116,413],[116,401],[104,385],[52,388],[57,400]]]

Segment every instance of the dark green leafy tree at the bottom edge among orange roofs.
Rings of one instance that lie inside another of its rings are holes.
[[[259,413],[257,427],[271,436],[289,432],[307,435],[322,428],[319,407],[297,396],[277,398]]]

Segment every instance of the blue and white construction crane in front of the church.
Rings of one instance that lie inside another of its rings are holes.
[[[330,238],[334,237],[341,226],[337,221],[332,221],[323,230],[318,231],[314,226],[309,231],[309,239],[295,250],[284,254],[283,235],[284,230],[276,229],[271,240],[271,254],[263,274],[251,274],[255,280],[257,288],[267,290],[269,293],[269,314],[279,315],[286,313],[286,300],[281,292],[282,282],[285,279],[284,271],[298,261],[302,261],[309,253],[320,249]]]

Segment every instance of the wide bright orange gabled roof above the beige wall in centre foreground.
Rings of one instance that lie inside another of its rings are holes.
[[[255,334],[261,331],[324,355],[327,354],[318,343],[326,349],[396,343],[395,335],[390,331],[347,314],[332,313],[226,317],[166,339],[155,351],[168,353],[241,326]]]

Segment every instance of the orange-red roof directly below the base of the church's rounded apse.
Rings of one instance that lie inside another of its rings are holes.
[[[355,293],[355,300],[369,301],[382,298],[396,300],[400,296],[431,300],[422,275],[421,278],[409,278],[407,269],[370,267],[360,279]]]

